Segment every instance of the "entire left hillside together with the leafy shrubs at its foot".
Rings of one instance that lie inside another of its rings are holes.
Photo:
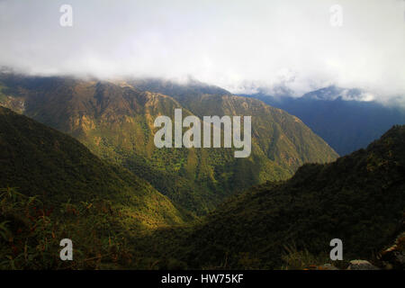
[[[137,267],[132,238],[193,220],[76,139],[0,107],[0,267]],[[76,260],[58,259],[72,238]],[[122,262],[123,261],[123,262]]]

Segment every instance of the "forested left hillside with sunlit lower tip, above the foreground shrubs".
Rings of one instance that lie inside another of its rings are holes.
[[[108,199],[133,214],[133,224],[157,227],[184,215],[150,184],[105,163],[76,139],[0,107],[0,187],[41,195],[48,205]]]

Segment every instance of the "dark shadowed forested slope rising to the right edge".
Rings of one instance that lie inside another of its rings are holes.
[[[167,257],[193,268],[319,261],[328,259],[332,238],[342,239],[344,259],[373,259],[403,229],[404,176],[405,126],[395,126],[331,164],[307,164],[290,180],[252,187],[187,232],[160,229],[154,237],[181,238]]]

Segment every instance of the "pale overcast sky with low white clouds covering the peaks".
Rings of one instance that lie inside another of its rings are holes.
[[[72,27],[59,23],[62,4],[73,8]],[[0,65],[193,76],[234,93],[283,85],[298,95],[334,84],[387,99],[405,95],[405,1],[0,0]]]

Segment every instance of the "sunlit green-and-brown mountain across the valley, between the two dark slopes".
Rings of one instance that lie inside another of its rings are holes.
[[[15,75],[0,80],[11,99],[24,100],[25,115],[74,136],[198,214],[253,184],[286,179],[303,163],[338,157],[298,118],[215,86]],[[172,117],[175,108],[184,117],[251,115],[251,157],[235,158],[229,148],[155,148],[153,121]]]

